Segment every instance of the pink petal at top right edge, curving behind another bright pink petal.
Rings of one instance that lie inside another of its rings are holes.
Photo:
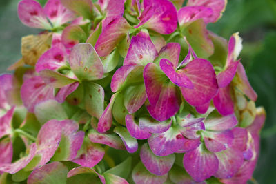
[[[187,6],[206,6],[212,8],[213,14],[208,17],[208,23],[215,23],[225,10],[226,0],[188,0]]]

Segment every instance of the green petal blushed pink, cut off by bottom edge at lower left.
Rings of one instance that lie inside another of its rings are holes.
[[[32,171],[28,177],[28,184],[60,183],[66,184],[68,169],[60,162],[52,162]]]

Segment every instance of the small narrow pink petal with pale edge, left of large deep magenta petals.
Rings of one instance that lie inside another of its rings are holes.
[[[112,92],[117,92],[119,88],[121,88],[124,81],[126,80],[126,77],[134,68],[135,65],[123,65],[121,68],[116,70],[110,84]]]

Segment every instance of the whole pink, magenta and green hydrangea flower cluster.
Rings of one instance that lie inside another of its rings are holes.
[[[184,5],[184,6],[183,6]],[[0,183],[246,183],[265,120],[226,0],[19,2],[0,76]]]

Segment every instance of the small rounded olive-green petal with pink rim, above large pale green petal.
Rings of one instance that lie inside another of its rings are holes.
[[[69,25],[66,27],[61,36],[61,42],[66,48],[73,48],[78,43],[86,41],[86,33],[79,25]]]

